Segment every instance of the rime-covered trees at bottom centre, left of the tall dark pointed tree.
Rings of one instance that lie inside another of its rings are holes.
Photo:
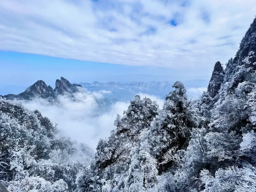
[[[135,96],[124,115],[117,115],[116,129],[101,139],[90,166],[92,177],[78,191],[136,191],[155,186],[156,162],[144,148],[143,136],[158,114],[158,105],[149,98]],[[80,178],[86,176],[80,176]],[[91,183],[88,185],[86,183]]]

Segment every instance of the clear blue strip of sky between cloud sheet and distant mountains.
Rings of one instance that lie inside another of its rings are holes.
[[[193,79],[192,71],[159,66],[130,66],[89,62],[66,58],[0,51],[0,86],[29,86],[36,80],[44,80],[54,87],[55,80],[64,76],[70,82],[132,82],[175,81]],[[197,69],[194,69],[194,73]],[[208,71],[210,74],[212,69]],[[199,74],[198,79],[208,78]]]

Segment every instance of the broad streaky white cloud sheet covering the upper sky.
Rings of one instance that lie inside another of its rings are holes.
[[[0,49],[212,69],[234,56],[255,12],[255,0],[1,0]]]

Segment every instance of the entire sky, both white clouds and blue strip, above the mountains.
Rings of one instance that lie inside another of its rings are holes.
[[[1,0],[0,86],[209,79],[255,0]]]

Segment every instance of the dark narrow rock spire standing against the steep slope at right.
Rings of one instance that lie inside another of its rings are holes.
[[[214,98],[219,93],[220,86],[224,80],[224,74],[225,72],[222,65],[219,61],[217,61],[214,66],[212,77],[207,88],[207,91],[212,98]]]

